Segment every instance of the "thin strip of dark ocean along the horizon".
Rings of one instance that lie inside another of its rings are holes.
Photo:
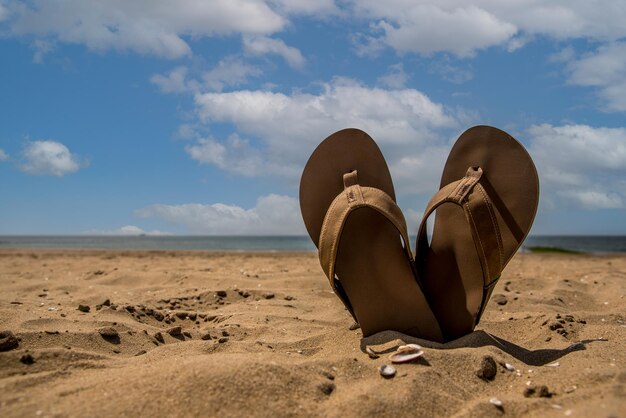
[[[415,237],[412,238],[412,244]],[[540,236],[522,251],[542,247],[585,253],[626,252],[626,236]],[[2,236],[0,248],[76,248],[204,251],[315,251],[308,236]]]

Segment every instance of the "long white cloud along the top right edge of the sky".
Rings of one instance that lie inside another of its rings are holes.
[[[359,39],[361,52],[382,43],[400,52],[466,57],[496,45],[514,51],[534,36],[600,41],[626,36],[622,0],[355,0],[351,7],[376,23],[369,37]]]

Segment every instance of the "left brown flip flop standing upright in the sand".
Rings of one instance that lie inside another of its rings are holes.
[[[344,129],[315,149],[300,180],[300,209],[324,273],[363,336],[395,330],[442,340],[415,277],[387,163],[369,135]]]

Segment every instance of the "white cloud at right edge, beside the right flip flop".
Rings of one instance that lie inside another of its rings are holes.
[[[587,209],[624,207],[626,128],[543,124],[528,133],[549,204],[561,199]]]

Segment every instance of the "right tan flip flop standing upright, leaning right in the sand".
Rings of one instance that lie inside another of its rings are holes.
[[[474,330],[539,202],[535,165],[500,129],[475,126],[456,141],[417,236],[416,266],[446,341]],[[426,220],[434,210],[430,245]]]

